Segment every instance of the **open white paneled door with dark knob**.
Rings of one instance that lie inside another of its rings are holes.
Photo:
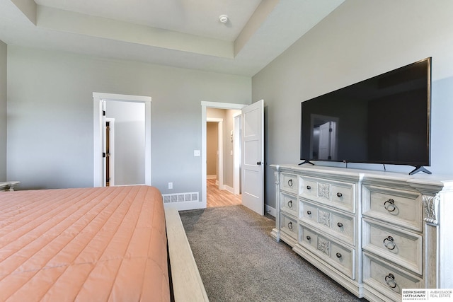
[[[264,100],[242,109],[242,204],[264,215]]]

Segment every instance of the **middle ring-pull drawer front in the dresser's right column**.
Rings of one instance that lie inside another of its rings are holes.
[[[387,228],[382,223],[363,220],[362,249],[373,252],[389,262],[394,262],[417,274],[423,273],[422,236],[397,228]]]

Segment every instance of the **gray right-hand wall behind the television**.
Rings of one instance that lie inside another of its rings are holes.
[[[453,172],[453,1],[346,0],[252,79],[265,100],[266,163],[299,163],[300,103],[432,57],[432,173]],[[341,165],[343,166],[343,165]],[[382,165],[348,164],[382,169]],[[386,165],[408,173],[412,167]],[[275,207],[266,168],[266,202]]]

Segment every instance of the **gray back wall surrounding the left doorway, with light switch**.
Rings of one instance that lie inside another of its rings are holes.
[[[8,46],[9,179],[93,186],[94,91],[151,96],[152,185],[201,194],[201,102],[249,104],[251,78]]]

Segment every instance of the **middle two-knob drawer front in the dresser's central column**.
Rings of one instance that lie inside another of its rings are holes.
[[[355,217],[318,207],[304,199],[299,200],[299,209],[299,219],[305,223],[322,228],[340,240],[355,245]]]

